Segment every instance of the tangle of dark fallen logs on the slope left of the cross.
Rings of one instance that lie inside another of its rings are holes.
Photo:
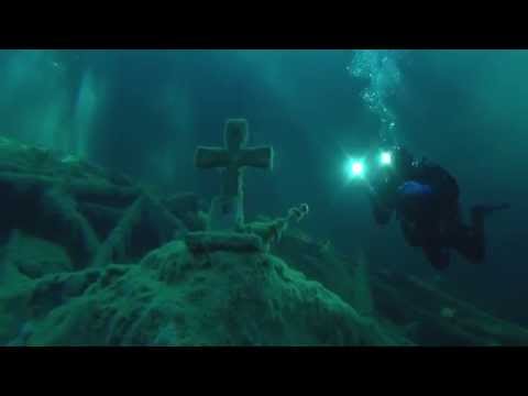
[[[82,268],[141,257],[187,230],[162,201],[125,177],[64,160],[2,141],[2,232],[20,229],[59,244]]]

